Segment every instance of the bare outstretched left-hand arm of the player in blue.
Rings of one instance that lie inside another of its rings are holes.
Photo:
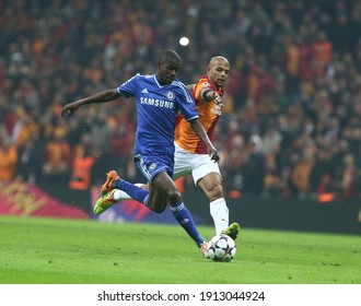
[[[116,89],[114,89],[114,90],[106,90],[106,91],[100,92],[97,94],[78,99],[75,102],[67,104],[62,108],[61,117],[71,116],[82,105],[110,102],[110,101],[119,98],[120,96],[121,95],[118,93],[118,91]]]

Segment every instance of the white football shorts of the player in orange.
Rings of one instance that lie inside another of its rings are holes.
[[[190,153],[175,144],[174,153],[174,180],[187,174],[191,174],[195,185],[197,181],[210,173],[221,172],[218,163],[214,163],[208,154]]]

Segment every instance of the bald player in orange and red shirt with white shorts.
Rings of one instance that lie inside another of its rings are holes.
[[[228,59],[216,56],[211,58],[207,67],[207,75],[202,75],[198,83],[188,86],[199,111],[199,121],[209,139],[212,139],[216,125],[222,115],[222,96],[229,73]],[[202,189],[209,199],[216,233],[224,233],[235,239],[240,225],[237,223],[229,225],[229,209],[224,199],[219,165],[210,160],[207,148],[184,118],[177,123],[175,130],[174,158],[174,178],[191,174],[196,186]]]

